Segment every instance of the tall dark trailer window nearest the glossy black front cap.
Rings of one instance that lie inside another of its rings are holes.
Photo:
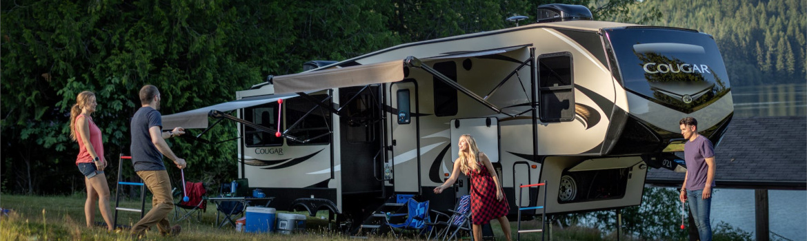
[[[571,61],[570,52],[538,56],[541,122],[564,122],[575,118],[575,83]]]

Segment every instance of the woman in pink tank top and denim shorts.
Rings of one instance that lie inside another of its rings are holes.
[[[107,230],[112,231],[114,227],[109,207],[109,184],[103,172],[107,167],[107,159],[103,156],[101,129],[90,117],[96,106],[98,102],[95,102],[95,93],[78,93],[76,104],[70,109],[70,138],[78,143],[76,165],[85,177],[87,200],[84,202],[84,215],[87,227],[92,227],[95,222],[95,200],[98,199],[98,209],[101,210],[104,222],[107,222]]]

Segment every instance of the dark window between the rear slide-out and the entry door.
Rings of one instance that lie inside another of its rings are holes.
[[[375,88],[374,88],[375,89]],[[352,102],[347,102],[348,98],[356,93],[343,95],[341,103],[344,103],[347,113],[347,127],[345,133],[348,143],[368,143],[375,140],[377,131],[376,121],[380,119],[378,110],[378,100],[369,91],[363,91]],[[347,103],[345,103],[347,102]]]

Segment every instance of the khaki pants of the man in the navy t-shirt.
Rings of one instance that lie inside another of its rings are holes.
[[[171,181],[168,172],[160,171],[140,171],[137,176],[143,179],[143,183],[152,192],[152,209],[148,211],[140,222],[132,226],[132,234],[143,234],[148,227],[157,224],[160,234],[167,234],[171,231],[168,215],[174,210],[174,197],[171,197]]]

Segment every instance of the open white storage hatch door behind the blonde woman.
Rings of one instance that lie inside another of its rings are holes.
[[[490,158],[494,168],[500,167],[499,163],[499,119],[495,117],[483,118],[458,118],[451,120],[451,161],[459,158],[459,137],[462,135],[471,135],[476,141],[476,146],[479,152],[485,153]],[[501,169],[497,169],[496,175],[499,176],[499,183],[502,183]],[[462,175],[458,177],[457,184],[457,197],[468,194],[470,182],[468,177]]]

